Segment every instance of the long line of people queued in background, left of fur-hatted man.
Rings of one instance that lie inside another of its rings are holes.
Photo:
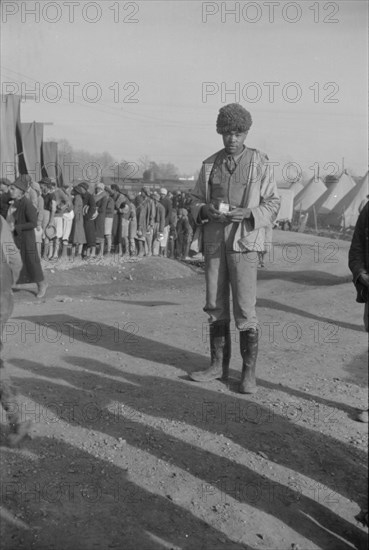
[[[195,223],[187,193],[165,188],[158,193],[144,186],[133,196],[116,184],[97,183],[92,190],[85,181],[59,188],[49,178],[34,182],[25,175],[18,180],[36,210],[36,248],[45,261],[95,260],[110,254],[178,259],[189,255]],[[1,215],[12,224],[14,184],[6,179],[0,183]]]

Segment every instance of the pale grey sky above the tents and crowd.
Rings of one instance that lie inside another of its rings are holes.
[[[344,157],[360,175],[367,22],[365,1],[3,1],[2,93],[36,86],[21,118],[53,122],[46,139],[187,173],[221,148],[218,110],[237,101],[271,160],[312,175]]]

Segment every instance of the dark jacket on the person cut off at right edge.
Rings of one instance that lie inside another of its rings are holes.
[[[368,301],[368,287],[358,279],[362,273],[369,273],[369,237],[368,237],[369,203],[366,203],[356,222],[349,250],[349,268],[357,290],[356,301]]]

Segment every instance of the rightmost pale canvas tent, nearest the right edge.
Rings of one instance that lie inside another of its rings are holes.
[[[368,172],[331,210],[326,217],[328,225],[354,227],[359,217],[359,207],[365,202],[368,189]]]

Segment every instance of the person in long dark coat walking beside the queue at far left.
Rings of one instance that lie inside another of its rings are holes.
[[[47,283],[36,247],[34,229],[37,227],[37,211],[25,196],[27,189],[28,182],[22,176],[19,176],[10,186],[10,195],[14,201],[11,207],[10,227],[23,262],[17,284],[36,283],[37,298],[43,298],[46,294]]]

